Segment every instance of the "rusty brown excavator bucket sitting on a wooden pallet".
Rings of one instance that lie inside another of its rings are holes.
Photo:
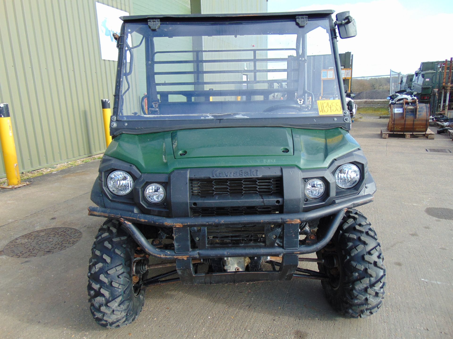
[[[418,99],[390,104],[387,129],[390,132],[426,132],[429,124],[429,104],[419,104]]]

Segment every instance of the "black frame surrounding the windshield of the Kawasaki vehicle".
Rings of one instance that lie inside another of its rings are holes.
[[[190,117],[182,118],[178,120],[167,120],[167,119],[150,119],[149,116],[140,115],[121,115],[120,113],[120,100],[121,91],[123,86],[123,74],[122,67],[117,68],[116,75],[116,86],[115,86],[115,100],[113,107],[113,118],[111,123],[111,135],[117,135],[120,133],[149,133],[149,132],[164,132],[173,131],[178,129],[189,129],[189,128],[213,128],[213,127],[299,127],[299,128],[312,128],[312,129],[329,129],[341,127],[345,130],[351,129],[350,120],[347,121],[346,113],[347,106],[344,95],[344,87],[341,76],[341,66],[338,56],[337,49],[337,33],[333,24],[332,14],[333,11],[319,11],[319,12],[294,12],[294,13],[277,13],[277,14],[218,14],[218,15],[153,15],[153,16],[130,16],[123,17],[123,24],[121,26],[120,37],[117,41],[118,47],[118,65],[123,65],[125,61],[125,24],[126,23],[137,23],[150,25],[151,22],[165,24],[183,24],[183,23],[225,23],[225,22],[250,22],[250,21],[269,21],[270,25],[275,24],[275,21],[292,21],[294,20],[313,20],[313,19],[328,19],[330,28],[330,43],[335,63],[336,72],[336,85],[339,90],[339,99],[341,100],[342,113],[338,115],[330,116],[301,116],[301,114],[291,114],[290,112],[266,115],[262,114],[259,118],[249,118],[242,116],[238,113],[231,114],[212,114],[209,118],[205,119],[193,119]],[[306,23],[305,23],[306,24]],[[302,26],[303,27],[303,26]],[[159,29],[159,28],[158,28]],[[165,35],[163,35],[165,36]],[[135,42],[136,43],[136,42]],[[123,93],[124,94],[124,93]],[[312,112],[310,112],[312,113]],[[344,116],[343,116],[344,115]],[[247,119],[248,118],[248,119]]]

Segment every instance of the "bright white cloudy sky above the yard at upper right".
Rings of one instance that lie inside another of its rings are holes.
[[[269,12],[316,9],[356,19],[357,37],[338,42],[340,53],[354,55],[353,76],[413,73],[422,61],[453,56],[453,0],[268,0]]]

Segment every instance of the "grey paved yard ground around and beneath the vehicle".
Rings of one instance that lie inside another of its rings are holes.
[[[82,236],[45,256],[0,255],[0,338],[452,338],[453,153],[426,149],[453,151],[453,141],[437,134],[435,140],[381,139],[387,121],[363,120],[354,122],[352,135],[378,191],[375,202],[359,210],[376,229],[387,268],[376,315],[338,315],[316,280],[174,283],[148,288],[133,324],[100,327],[87,302],[88,259],[103,222],[87,216],[96,160],[0,190],[0,249],[51,227],[75,228]]]

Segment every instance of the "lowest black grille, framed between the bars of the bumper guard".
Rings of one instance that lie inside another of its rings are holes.
[[[228,245],[265,242],[265,226],[206,227],[207,245]]]

